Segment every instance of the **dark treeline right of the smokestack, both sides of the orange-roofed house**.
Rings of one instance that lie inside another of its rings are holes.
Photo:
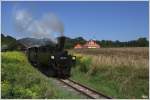
[[[85,44],[87,41],[82,37],[78,37],[75,39],[67,38],[65,48],[70,49],[73,48],[76,44]],[[101,47],[148,47],[149,41],[145,37],[138,38],[137,40],[131,40],[127,42],[121,42],[119,40],[111,41],[111,40],[96,40],[96,43]]]

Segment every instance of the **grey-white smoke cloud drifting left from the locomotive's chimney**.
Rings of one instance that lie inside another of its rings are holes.
[[[59,18],[53,13],[46,13],[40,19],[35,19],[26,10],[17,10],[14,14],[15,28],[20,33],[33,38],[49,38],[57,42],[54,33],[63,35],[64,26]]]

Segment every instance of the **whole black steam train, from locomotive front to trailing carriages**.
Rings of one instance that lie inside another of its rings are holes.
[[[47,76],[68,78],[76,57],[64,50],[65,37],[58,38],[56,45],[28,48],[28,60]]]

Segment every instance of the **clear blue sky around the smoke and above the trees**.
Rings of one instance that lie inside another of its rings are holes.
[[[35,19],[55,13],[71,38],[129,41],[149,35],[148,1],[2,2],[2,33],[19,39],[30,36],[14,28],[14,9],[28,10]]]

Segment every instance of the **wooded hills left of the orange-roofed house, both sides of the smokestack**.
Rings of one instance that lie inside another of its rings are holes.
[[[25,47],[32,47],[32,46],[43,46],[43,45],[55,45],[50,39],[48,38],[43,38],[43,39],[36,39],[36,38],[22,38],[19,40],[16,40],[12,36],[4,36],[1,34],[1,40],[2,40],[2,49],[8,49],[8,50],[16,50],[17,47],[20,45],[25,46]],[[66,37],[66,42],[65,42],[65,48],[73,48],[75,44],[81,43],[84,44],[86,43],[86,40],[83,39],[82,37],[77,37],[77,38],[69,38]]]

